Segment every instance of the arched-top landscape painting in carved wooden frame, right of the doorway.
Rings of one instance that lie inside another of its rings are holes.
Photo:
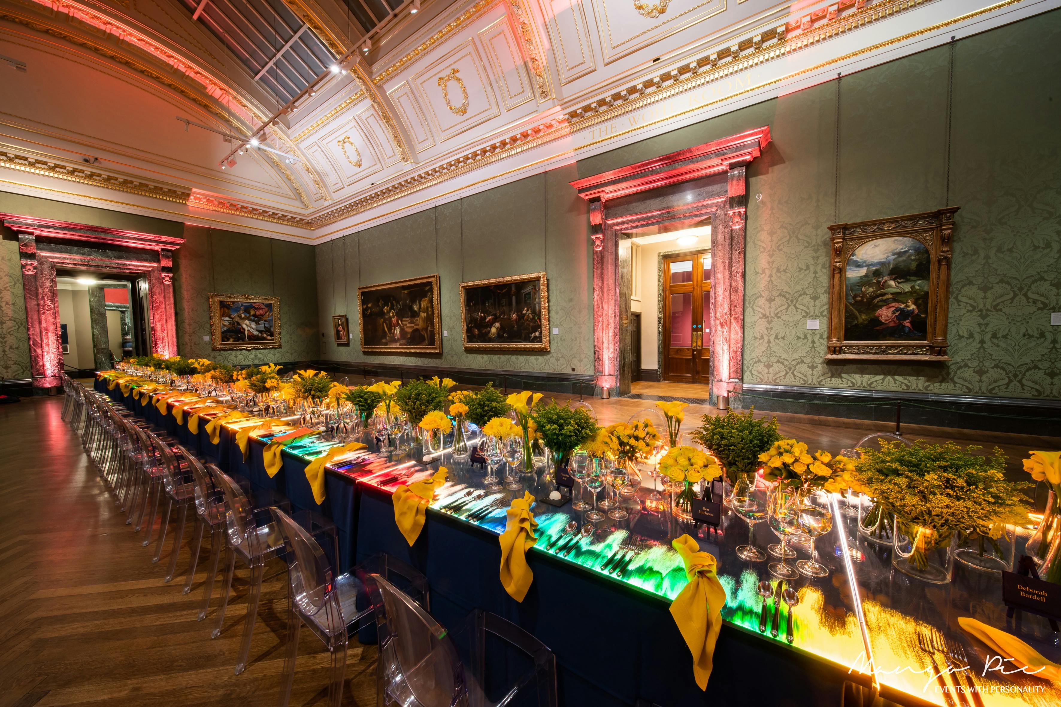
[[[946,319],[958,208],[829,227],[827,359],[950,360]]]

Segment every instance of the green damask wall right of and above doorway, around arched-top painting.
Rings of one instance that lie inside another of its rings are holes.
[[[746,383],[1061,399],[1061,328],[1049,325],[1061,311],[1061,56],[1044,51],[1059,42],[1061,11],[955,42],[950,180],[950,47],[581,160],[578,174],[768,124],[773,142],[748,170]],[[827,365],[825,227],[947,205],[961,207],[951,363]]]

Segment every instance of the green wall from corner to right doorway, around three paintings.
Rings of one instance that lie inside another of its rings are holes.
[[[388,365],[443,366],[558,374],[593,372],[593,280],[585,201],[568,182],[574,165],[336,238],[316,247],[320,357]],[[510,275],[549,276],[551,351],[466,352],[459,283]],[[442,353],[365,354],[358,287],[437,272]],[[331,317],[350,318],[349,347],[332,340]]]

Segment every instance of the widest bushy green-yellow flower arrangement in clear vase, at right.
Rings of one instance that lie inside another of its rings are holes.
[[[863,449],[854,477],[894,515],[891,562],[900,571],[950,582],[959,535],[990,537],[992,527],[1020,520],[1021,484],[1006,481],[1006,456],[974,454],[979,448],[882,440],[880,450]]]

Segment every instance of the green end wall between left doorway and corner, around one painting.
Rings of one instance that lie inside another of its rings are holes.
[[[180,355],[239,366],[319,356],[313,246],[191,225],[181,237],[173,263]],[[210,293],[279,297],[281,348],[213,351]]]

